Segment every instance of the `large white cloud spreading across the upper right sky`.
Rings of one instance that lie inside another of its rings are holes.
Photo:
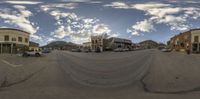
[[[154,28],[155,24],[165,24],[169,26],[171,30],[184,31],[191,27],[190,24],[188,24],[189,20],[196,20],[200,17],[200,7],[190,7],[189,5],[176,6],[157,2],[139,4],[112,2],[104,6],[118,9],[136,9],[145,12],[145,16],[149,18],[144,19],[144,21],[136,22],[131,28],[127,29],[127,32],[132,35],[139,35],[141,32],[156,30],[156,28]]]

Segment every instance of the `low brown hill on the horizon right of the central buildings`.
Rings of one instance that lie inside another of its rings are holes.
[[[141,49],[157,48],[159,44],[153,40],[146,40],[139,43]]]

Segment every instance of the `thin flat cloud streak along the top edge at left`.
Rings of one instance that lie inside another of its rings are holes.
[[[42,2],[39,2],[39,1],[4,1],[4,3],[35,5],[35,4],[40,4]]]

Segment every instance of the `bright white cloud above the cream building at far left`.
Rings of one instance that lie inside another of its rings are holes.
[[[36,33],[39,27],[34,27],[29,20],[29,17],[33,15],[32,12],[22,5],[14,5],[13,8],[15,10],[6,8],[0,10],[0,18],[4,19],[4,23],[16,25],[31,34]]]

